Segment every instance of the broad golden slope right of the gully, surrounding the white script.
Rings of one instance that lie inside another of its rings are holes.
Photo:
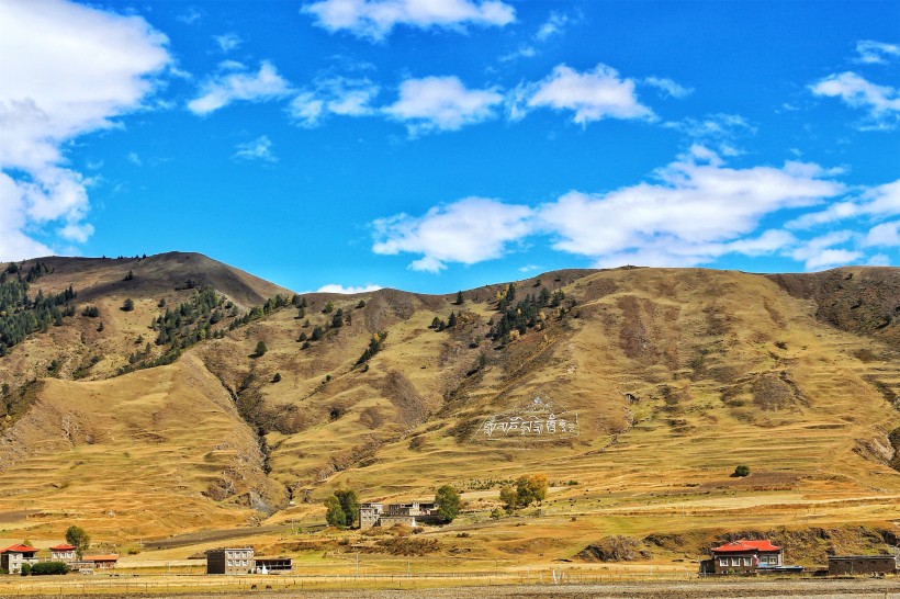
[[[900,485],[885,465],[886,433],[900,419],[867,381],[896,388],[898,362],[885,347],[818,323],[808,304],[757,275],[620,270],[566,291],[578,300],[573,317],[503,351],[428,330],[425,312],[389,328],[367,373],[313,395],[322,374],[300,393],[271,385],[272,402],[295,396],[320,415],[306,430],[271,434],[275,476],[296,476],[317,498],[342,483],[386,497],[535,470],[604,488],[614,477],[637,491],[661,477],[720,479],[738,464],[761,477],[837,476],[855,491]],[[345,348],[346,358],[361,349]],[[466,377],[480,351],[488,365]],[[392,386],[396,378],[408,385]],[[576,441],[479,439],[483,420],[535,395],[577,411]],[[420,423],[403,409],[410,403],[427,414]],[[335,405],[346,411],[329,420]],[[362,417],[371,408],[381,427]],[[340,472],[328,479],[330,471]]]

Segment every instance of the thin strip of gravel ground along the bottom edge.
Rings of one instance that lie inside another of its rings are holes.
[[[103,598],[112,595],[99,596]],[[120,596],[125,597],[125,596]],[[130,594],[147,599],[783,599],[817,597],[821,599],[900,599],[898,578],[857,578],[825,580],[729,580],[700,583],[653,583],[610,585],[494,586],[420,590],[328,590],[328,591],[249,591],[190,595]]]

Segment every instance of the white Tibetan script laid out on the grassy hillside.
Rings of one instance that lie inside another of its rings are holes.
[[[510,438],[537,440],[567,439],[578,436],[578,414],[556,410],[551,402],[535,397],[525,408],[492,416],[475,433],[476,440]]]

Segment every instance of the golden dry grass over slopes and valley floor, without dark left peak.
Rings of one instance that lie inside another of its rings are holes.
[[[577,306],[505,350],[484,339],[496,289],[469,292],[461,308],[452,296],[384,291],[312,297],[303,319],[285,308],[171,366],[46,380],[0,444],[0,536],[49,542],[78,522],[124,553],[142,539],[209,531],[206,541],[144,549],[123,565],[160,567],[230,539],[292,555],[310,574],[347,572],[357,553],[371,573],[396,574],[550,568],[618,534],[652,551],[637,560],[642,572],[651,563],[695,572],[698,555],[729,532],[781,534],[796,543],[788,562],[813,565],[829,547],[884,545],[866,531],[900,533],[900,474],[888,465],[900,412],[873,384],[900,393],[895,350],[822,324],[812,303],[758,275],[581,274],[544,278]],[[537,293],[533,284],[517,297]],[[330,321],[320,312],[328,300],[351,323],[301,350],[301,332]],[[110,326],[146,331],[156,308],[137,303]],[[461,330],[428,328],[460,309]],[[59,339],[71,334],[64,329]],[[368,370],[355,366],[375,331],[389,334],[384,350]],[[259,340],[269,351],[251,358]],[[38,342],[13,353],[14,368],[29,368]],[[487,417],[536,395],[576,411],[580,436],[479,438]],[[248,397],[254,426],[236,409]],[[739,464],[751,476],[731,477]],[[499,483],[535,472],[555,485],[543,505],[493,520]],[[319,529],[322,501],[340,486],[391,501],[427,498],[445,483],[470,491],[465,511],[414,535],[437,541],[424,555],[373,553],[372,538]],[[808,530],[826,536],[790,536]]]

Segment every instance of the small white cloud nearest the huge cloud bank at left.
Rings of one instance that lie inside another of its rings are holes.
[[[228,72],[224,72],[227,70]],[[232,102],[266,102],[291,93],[291,86],[275,67],[263,60],[257,72],[248,72],[243,65],[226,61],[220,65],[220,74],[201,86],[200,95],[188,102],[188,110],[206,115]]]

